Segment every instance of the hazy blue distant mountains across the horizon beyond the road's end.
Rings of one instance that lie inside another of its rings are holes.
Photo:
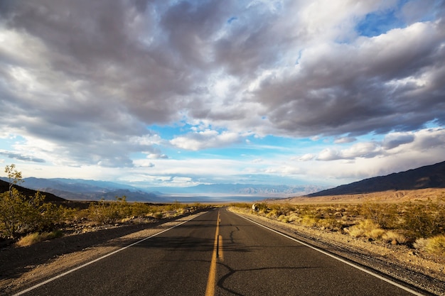
[[[5,177],[0,180],[7,181]],[[226,200],[257,200],[268,197],[290,197],[323,190],[326,187],[286,185],[212,184],[193,187],[139,188],[115,182],[82,179],[42,179],[28,177],[23,186],[31,190],[48,192],[69,200],[112,200],[126,196],[128,201],[138,202],[205,202]],[[194,197],[194,198],[192,198]]]

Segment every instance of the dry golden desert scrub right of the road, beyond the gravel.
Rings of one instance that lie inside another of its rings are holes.
[[[232,204],[288,224],[335,231],[375,243],[405,245],[432,256],[445,256],[445,192],[435,199],[357,204]]]

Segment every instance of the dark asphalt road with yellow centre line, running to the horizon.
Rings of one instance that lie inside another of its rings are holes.
[[[23,295],[413,294],[215,209]]]

